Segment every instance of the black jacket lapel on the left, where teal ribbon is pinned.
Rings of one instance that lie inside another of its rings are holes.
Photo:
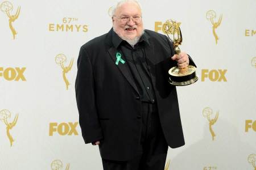
[[[130,70],[129,70],[129,66],[127,65],[127,62],[122,63],[119,62],[118,65],[115,64],[115,61],[117,61],[117,49],[114,48],[114,46],[110,47],[109,50],[109,55],[110,57],[113,59],[113,67],[118,67],[118,69],[121,71],[121,73],[123,74],[123,76],[125,76],[125,78],[127,79],[127,81],[131,84],[131,86],[134,88],[134,90],[138,93],[139,95],[139,91],[138,88],[133,80],[133,77],[131,76]],[[119,52],[121,53],[121,52]],[[121,55],[123,56],[123,54],[121,53]],[[124,57],[122,57],[123,59]]]

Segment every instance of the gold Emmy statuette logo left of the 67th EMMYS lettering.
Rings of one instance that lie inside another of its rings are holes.
[[[17,32],[15,31],[15,29],[13,27],[13,23],[19,17],[20,6],[18,7],[18,9],[16,10],[14,15],[10,14],[10,11],[13,10],[13,4],[11,4],[11,2],[8,2],[8,1],[2,2],[0,5],[0,8],[1,8],[1,11],[4,12],[9,18],[9,27],[11,29],[11,33],[13,33],[13,39],[15,39]]]

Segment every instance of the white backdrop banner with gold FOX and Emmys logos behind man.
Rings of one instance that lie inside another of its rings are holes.
[[[0,1],[0,169],[102,169],[81,137],[76,61],[116,2]],[[166,169],[256,169],[256,1],[139,2],[146,29],[180,22],[199,76],[177,87],[186,145]]]

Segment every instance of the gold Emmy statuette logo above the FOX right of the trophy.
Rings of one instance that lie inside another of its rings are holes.
[[[216,12],[213,11],[213,10],[209,10],[209,11],[207,11],[206,18],[210,21],[210,23],[212,23],[212,32],[213,32],[213,36],[215,38],[215,42],[217,44],[218,43],[218,36],[217,36],[217,33],[216,33],[216,28],[218,28],[218,26],[220,26],[220,24],[221,24],[222,14],[220,15],[220,18],[218,18],[218,22],[214,22],[213,19],[216,18]]]

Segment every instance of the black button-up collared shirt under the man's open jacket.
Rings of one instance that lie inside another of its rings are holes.
[[[121,51],[130,68],[130,73],[141,95],[141,101],[155,103],[155,92],[148,70],[147,56],[144,52],[144,47],[150,45],[148,38],[144,33],[138,43],[132,47],[128,42],[122,40],[117,33],[113,32],[113,44],[117,50]]]

